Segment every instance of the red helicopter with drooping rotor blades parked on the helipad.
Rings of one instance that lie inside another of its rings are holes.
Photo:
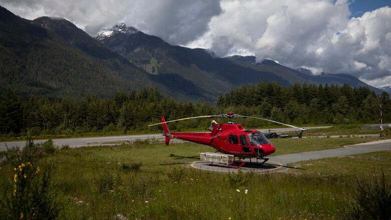
[[[209,117],[221,117],[221,118],[229,118],[227,124],[219,124],[215,120],[212,121],[212,127],[210,128],[211,132],[170,132],[168,130],[167,123],[174,121],[181,121],[187,119],[195,119],[195,118],[209,118]],[[215,148],[216,152],[221,152],[227,155],[233,155],[239,158],[251,158],[255,157],[263,160],[262,163],[266,162],[268,158],[264,158],[264,156],[268,156],[275,152],[276,148],[273,144],[265,137],[263,133],[258,130],[246,130],[241,124],[235,124],[234,118],[255,118],[266,120],[278,124],[282,124],[285,126],[297,128],[301,130],[300,134],[291,135],[290,137],[301,137],[303,131],[305,129],[298,128],[293,125],[284,124],[277,121],[272,121],[265,118],[257,118],[251,116],[237,115],[233,112],[228,112],[227,114],[221,115],[205,115],[205,116],[196,116],[189,118],[181,118],[172,121],[165,121],[163,116],[160,116],[161,123],[151,124],[163,126],[163,136],[165,136],[165,146],[168,146],[171,138],[177,138],[181,140],[191,141],[194,143],[205,144]],[[234,160],[235,162],[235,160]],[[238,168],[244,165],[243,161],[240,161],[241,165],[239,166],[230,166],[228,167]]]

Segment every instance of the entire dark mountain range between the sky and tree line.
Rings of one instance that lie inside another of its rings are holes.
[[[0,92],[80,98],[156,88],[178,101],[215,101],[250,83],[349,83],[344,74],[308,75],[254,56],[220,58],[205,49],[172,46],[119,23],[95,38],[61,18],[20,18],[0,7]]]

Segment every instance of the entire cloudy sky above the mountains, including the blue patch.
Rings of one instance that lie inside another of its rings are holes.
[[[255,55],[314,74],[391,85],[391,1],[0,0],[27,19],[62,17],[95,36],[117,22],[218,56]]]

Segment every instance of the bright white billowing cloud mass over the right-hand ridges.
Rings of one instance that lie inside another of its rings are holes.
[[[221,6],[209,31],[189,47],[219,56],[248,51],[258,61],[348,73],[366,82],[391,75],[391,8],[351,18],[348,1],[223,0]]]

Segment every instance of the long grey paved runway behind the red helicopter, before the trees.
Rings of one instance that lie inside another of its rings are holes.
[[[328,128],[330,126],[321,126],[321,127],[304,127],[305,129],[313,128]],[[276,132],[284,131],[294,131],[295,128],[273,128]],[[261,132],[267,132],[267,130],[260,130]],[[113,142],[119,141],[134,141],[136,139],[153,139],[153,138],[163,138],[161,134],[145,134],[145,135],[126,135],[126,136],[110,136],[110,137],[86,137],[86,138],[67,138],[67,139],[53,139],[53,142],[58,146],[68,144],[70,147],[81,147],[81,146],[96,146],[96,145],[110,145]],[[42,143],[47,140],[35,140],[36,143]],[[11,142],[0,142],[0,151],[6,150],[6,145],[8,147],[19,146],[24,147],[26,141],[11,141]]]

